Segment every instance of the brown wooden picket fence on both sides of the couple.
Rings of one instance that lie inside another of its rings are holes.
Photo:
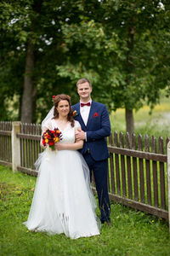
[[[0,164],[10,166],[12,125],[14,123],[0,122]],[[15,135],[20,141],[17,170],[37,176],[34,162],[42,152],[39,145],[41,126],[20,124],[19,128]],[[149,138],[146,135],[143,138],[139,135],[136,138],[135,134],[130,139],[128,133],[124,136],[121,132],[118,136],[115,131],[108,142],[108,189],[111,200],[160,218],[168,218],[168,142],[169,138],[164,142],[162,137],[157,140],[154,136]]]

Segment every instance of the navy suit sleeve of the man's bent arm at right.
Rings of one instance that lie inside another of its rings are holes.
[[[101,126],[99,130],[87,131],[87,142],[100,140],[104,137],[109,137],[111,134],[111,123],[109,113],[105,107],[101,114]]]

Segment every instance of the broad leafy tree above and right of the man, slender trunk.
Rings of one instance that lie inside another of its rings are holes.
[[[93,13],[94,1],[88,1],[82,4],[80,23],[62,26],[68,57],[65,67],[57,67],[59,75],[74,82],[78,76],[92,78],[95,98],[112,109],[126,108],[130,134],[133,109],[144,101],[153,108],[160,90],[168,85],[168,75],[165,79],[162,74],[164,84],[156,82],[160,80],[156,67],[163,66],[161,52],[159,58],[156,52],[165,48],[162,27],[169,20],[164,2],[100,1]]]

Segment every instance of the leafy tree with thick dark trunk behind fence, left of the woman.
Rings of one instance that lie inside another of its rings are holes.
[[[65,79],[57,78],[54,67],[65,60],[60,22],[67,22],[77,16],[77,13],[72,15],[71,11],[75,6],[73,4],[71,7],[70,1],[16,0],[3,1],[0,8],[3,19],[1,88],[3,90],[5,84],[11,97],[20,95],[18,107],[22,121],[37,120],[39,108],[39,117],[42,119],[46,108],[49,108],[48,102],[54,94],[54,88],[56,93],[60,92],[61,85],[66,90]],[[17,73],[14,61],[18,67]],[[16,84],[19,84],[19,90],[14,90]],[[3,94],[4,100],[8,97],[8,93],[5,96]]]

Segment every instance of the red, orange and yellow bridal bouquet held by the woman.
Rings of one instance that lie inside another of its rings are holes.
[[[62,140],[61,131],[58,128],[54,128],[54,130],[46,130],[42,134],[42,144],[46,146],[48,144],[49,148],[54,150],[54,144],[60,142]]]

